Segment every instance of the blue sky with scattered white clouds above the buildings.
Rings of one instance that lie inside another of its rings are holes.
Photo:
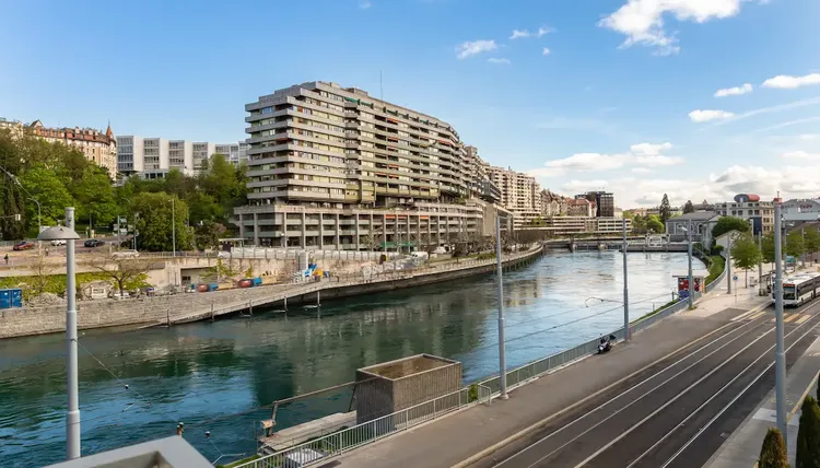
[[[605,187],[623,207],[664,192],[820,196],[816,0],[0,0],[0,11],[10,119],[227,142],[245,138],[244,104],[259,95],[324,80],[378,96],[380,72],[386,100],[453,124],[488,162],[553,191]]]

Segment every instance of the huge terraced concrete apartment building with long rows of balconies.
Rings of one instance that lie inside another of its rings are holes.
[[[245,110],[248,206],[234,221],[255,245],[418,248],[481,234],[495,213],[490,186],[476,197],[477,151],[435,117],[321,81]]]

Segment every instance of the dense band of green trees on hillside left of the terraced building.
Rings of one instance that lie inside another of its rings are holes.
[[[56,225],[73,206],[78,232],[108,231],[125,217],[139,231],[137,247],[145,250],[171,250],[174,227],[177,249],[215,246],[247,194],[245,167],[234,167],[221,154],[204,161],[197,176],[172,169],[165,178],[130,177],[115,186],[79,149],[8,129],[0,129],[0,180],[4,241],[36,236],[40,222]]]

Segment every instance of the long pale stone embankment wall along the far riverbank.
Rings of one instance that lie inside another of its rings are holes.
[[[535,261],[543,249],[506,256],[504,268],[518,268]],[[117,326],[165,325],[210,319],[274,304],[314,303],[317,295],[329,300],[371,294],[401,288],[452,281],[494,271],[495,260],[448,262],[419,270],[397,271],[373,278],[343,281],[335,279],[301,284],[233,289],[209,293],[175,294],[122,301],[83,301],[78,305],[81,329]],[[61,332],[66,329],[66,306],[26,307],[0,311],[0,338]]]

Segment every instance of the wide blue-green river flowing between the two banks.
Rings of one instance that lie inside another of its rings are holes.
[[[631,317],[668,302],[672,272],[686,268],[684,254],[629,254]],[[622,278],[614,251],[550,253],[505,273],[508,366],[618,328]],[[270,417],[256,408],[350,382],[359,367],[426,352],[461,361],[465,382],[489,376],[497,370],[496,308],[495,278],[481,276],[318,309],[81,331],[82,453],[173,435],[183,421],[188,442],[226,463],[256,449],[255,428]],[[63,360],[61,335],[0,341],[0,466],[65,457]],[[347,411],[349,402],[342,390],[284,406],[278,428]]]

